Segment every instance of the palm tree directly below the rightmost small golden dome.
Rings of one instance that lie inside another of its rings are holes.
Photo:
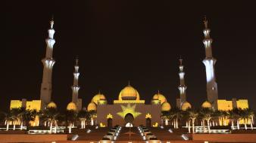
[[[211,133],[211,128],[210,128],[210,120],[212,117],[214,117],[214,111],[211,108],[201,108],[201,110],[199,111],[200,113],[200,117],[203,120],[207,121],[208,124],[208,133]]]

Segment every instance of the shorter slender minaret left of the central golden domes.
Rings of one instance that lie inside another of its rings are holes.
[[[73,72],[73,86],[72,88],[72,102],[76,103],[77,106],[77,102],[78,102],[78,90],[80,89],[80,87],[78,86],[78,78],[80,73],[78,72],[79,69],[79,65],[78,65],[78,59],[76,58],[76,65],[74,66],[75,71]]]

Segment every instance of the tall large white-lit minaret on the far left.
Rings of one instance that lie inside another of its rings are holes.
[[[55,34],[55,29],[53,29],[54,21],[53,18],[50,21],[50,29],[48,29],[48,38],[45,39],[46,42],[46,54],[45,58],[42,59],[44,65],[43,75],[42,75],[42,84],[41,84],[41,93],[40,99],[42,100],[42,108],[51,102],[52,96],[52,67],[55,65],[55,60],[52,58],[52,50],[55,44],[55,39],[53,38]]]

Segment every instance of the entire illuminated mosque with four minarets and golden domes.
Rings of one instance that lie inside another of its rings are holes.
[[[45,58],[42,59],[43,63],[43,75],[42,84],[39,100],[27,101],[22,100],[11,100],[11,108],[24,107],[27,109],[36,109],[37,111],[45,108],[56,108],[57,105],[52,101],[52,67],[55,65],[55,59],[53,59],[52,51],[54,49],[55,29],[53,29],[54,20],[50,22],[50,29],[48,29],[48,38],[46,42],[46,54]],[[206,91],[207,101],[204,101],[201,105],[203,108],[213,108],[214,110],[228,111],[233,108],[248,108],[247,99],[232,99],[228,101],[226,99],[218,99],[217,82],[214,64],[216,59],[212,56],[210,37],[211,30],[208,29],[208,20],[204,19],[204,49],[205,58],[202,61],[205,65],[206,73]],[[67,110],[80,111],[83,108],[82,99],[78,98],[80,86],[79,81],[79,64],[78,59],[74,65],[73,72],[73,86],[72,99],[67,105]],[[192,108],[189,101],[186,100],[186,84],[185,84],[185,71],[183,65],[183,59],[180,59],[180,84],[178,89],[180,90],[180,98],[176,99],[176,108],[180,108],[185,111],[188,108]],[[113,104],[108,104],[106,97],[102,93],[98,93],[92,97],[92,102],[87,105],[87,111],[96,111],[96,119],[92,121],[92,124],[98,124],[100,126],[158,126],[163,124],[161,120],[162,111],[170,111],[172,106],[167,101],[167,98],[162,95],[159,91],[152,96],[151,104],[145,104],[145,100],[140,99],[139,92],[136,88],[128,84],[123,90],[120,90],[119,96],[113,101]],[[84,109],[84,108],[83,108]],[[39,125],[39,118],[33,122],[32,126]]]

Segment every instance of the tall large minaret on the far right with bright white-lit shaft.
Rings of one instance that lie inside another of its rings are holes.
[[[205,59],[203,60],[206,71],[206,82],[207,82],[207,96],[208,101],[213,104],[214,109],[217,109],[217,99],[218,99],[218,90],[217,83],[215,81],[215,71],[214,65],[216,59],[212,56],[211,43],[212,39],[210,38],[210,29],[208,29],[208,20],[204,18],[204,48],[205,48]]]

